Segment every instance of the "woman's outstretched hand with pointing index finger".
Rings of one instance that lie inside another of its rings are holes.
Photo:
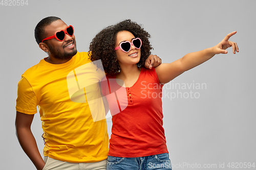
[[[236,31],[229,33],[220,43],[212,47],[214,54],[227,54],[226,49],[229,48],[230,46],[232,46],[233,48],[233,54],[236,54],[236,52],[239,52],[237,43],[228,41],[229,38],[236,33],[237,33]]]

